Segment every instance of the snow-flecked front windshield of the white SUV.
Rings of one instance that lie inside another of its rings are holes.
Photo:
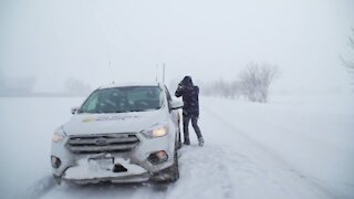
[[[163,92],[158,86],[126,86],[97,90],[79,113],[125,113],[159,109]]]

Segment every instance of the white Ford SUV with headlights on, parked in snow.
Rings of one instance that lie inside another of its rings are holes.
[[[181,106],[160,83],[95,90],[53,135],[54,178],[75,184],[176,181]]]

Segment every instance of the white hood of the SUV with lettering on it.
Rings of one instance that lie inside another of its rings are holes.
[[[162,109],[117,114],[77,114],[63,125],[66,135],[138,133],[166,122]]]

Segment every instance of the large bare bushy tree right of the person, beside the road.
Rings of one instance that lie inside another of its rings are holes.
[[[242,94],[251,102],[266,103],[269,86],[278,74],[279,70],[274,65],[249,63],[239,75]]]

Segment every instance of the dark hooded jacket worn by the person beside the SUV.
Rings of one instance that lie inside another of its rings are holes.
[[[184,115],[199,116],[199,87],[192,84],[190,76],[185,76],[179,83],[175,95],[176,97],[183,97]]]

